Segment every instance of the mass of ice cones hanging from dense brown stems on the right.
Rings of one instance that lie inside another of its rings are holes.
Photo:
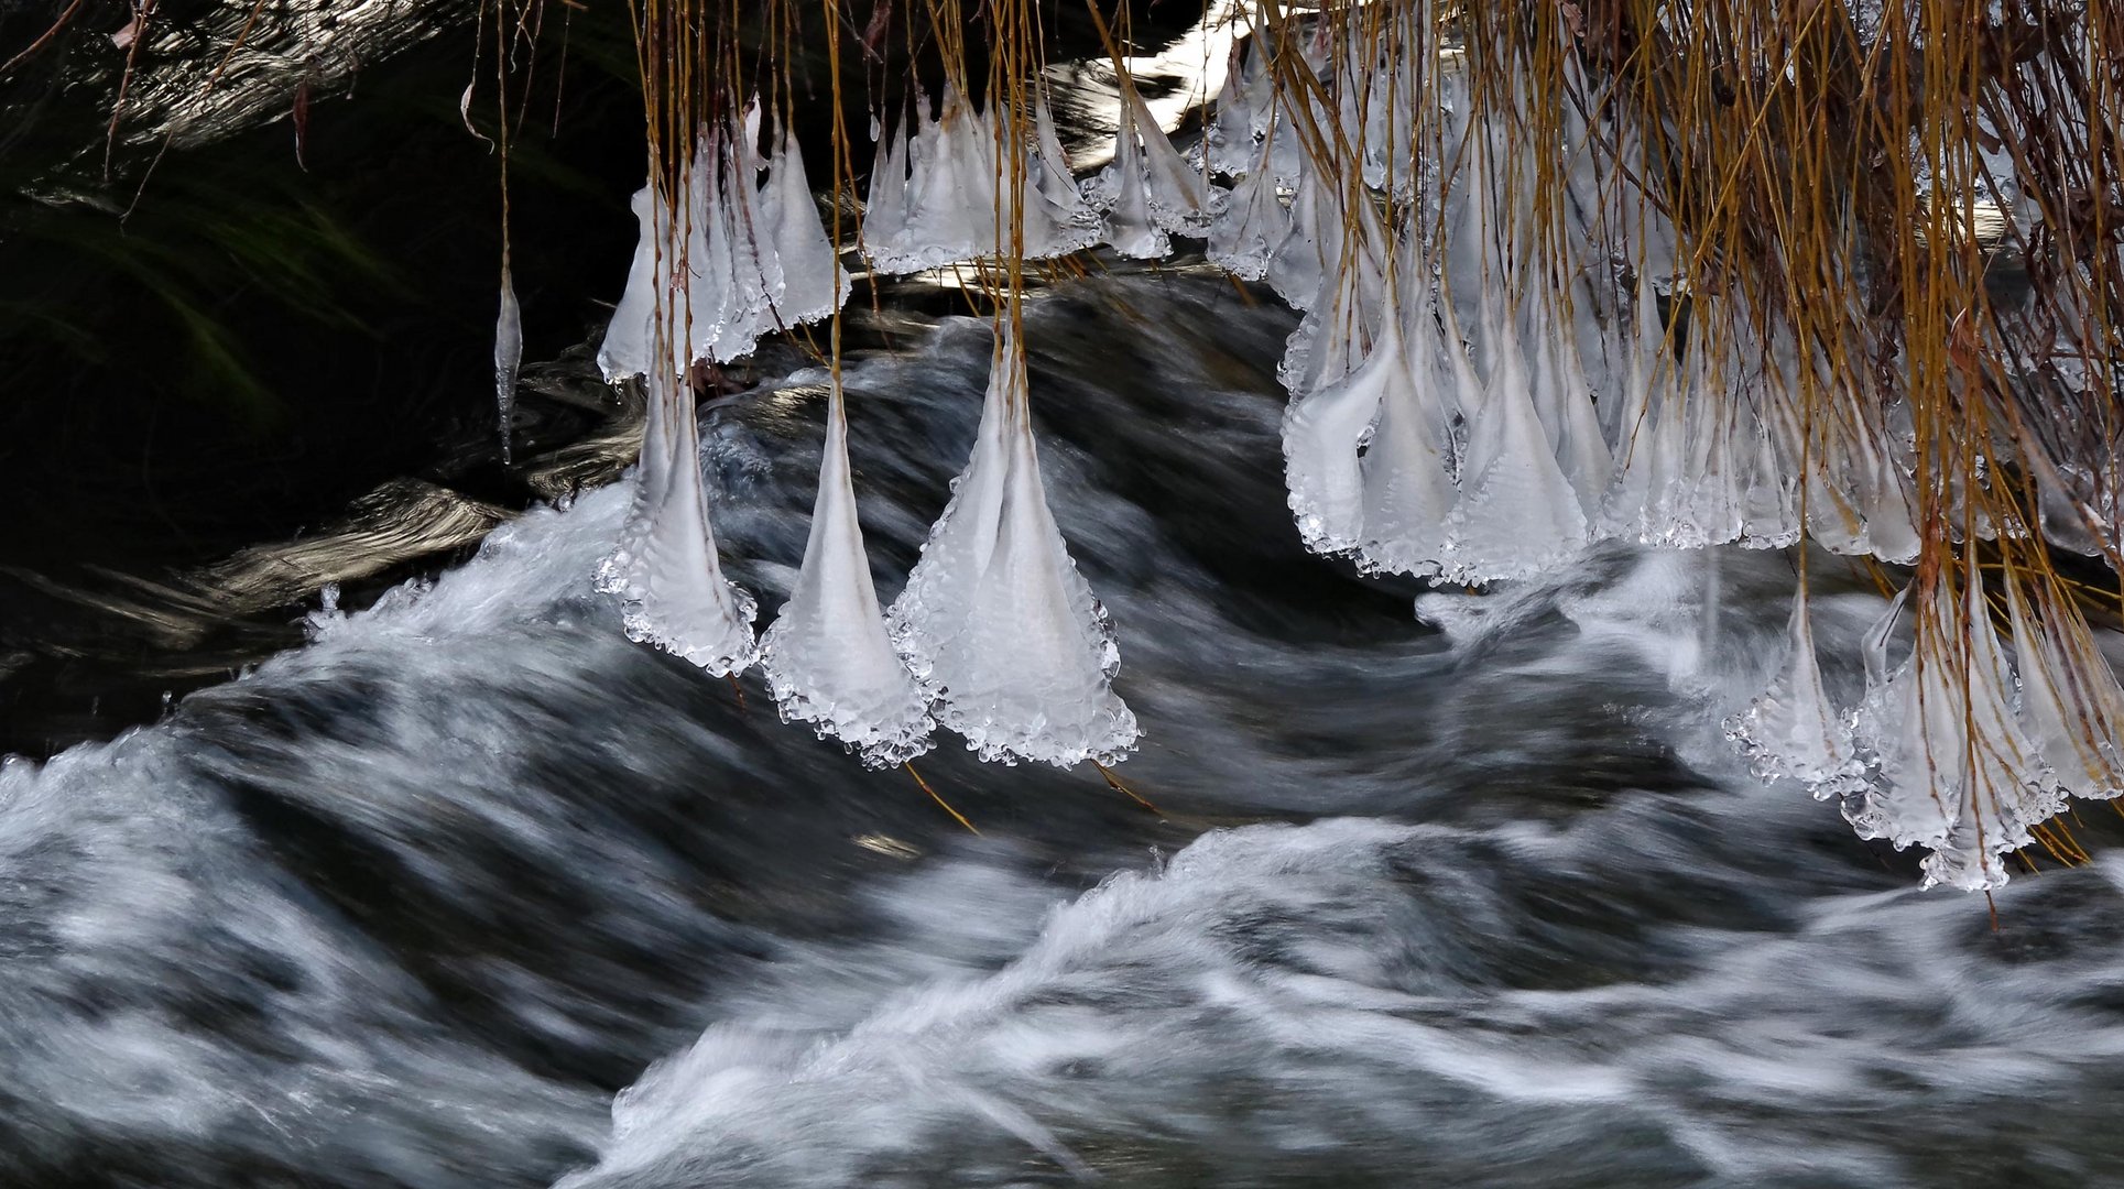
[[[1472,115],[1446,68],[1419,102],[1412,55],[1302,49],[1330,100],[1302,100],[1323,151],[1296,151],[1289,89],[1268,85],[1257,55],[1234,64],[1196,159],[1230,178],[1209,202],[1209,259],[1306,312],[1279,372],[1308,548],[1453,584],[1527,578],[1601,539],[1805,537],[1918,558],[1907,410],[1850,399],[1808,416],[1795,393],[1833,391],[1835,369],[1791,333],[1712,316],[1689,333],[1676,310],[1712,299],[1659,280],[1680,272],[1672,227],[1582,151],[1591,138],[1568,104],[1557,227],[1536,219],[1534,147],[1506,132],[1495,96]],[[1421,172],[1436,161],[1457,172]],[[1389,229],[1381,210],[1402,223]],[[1999,531],[1960,510],[1950,522]],[[1861,837],[1931,851],[1926,883],[2003,883],[2007,854],[2050,845],[2043,822],[2067,796],[2124,794],[2124,690],[2069,599],[2033,609],[2022,584],[2001,586],[2009,641],[1973,569],[1960,586],[1952,573],[1918,586],[1907,633],[1909,594],[1897,599],[1865,645],[1867,690],[1844,709],[1825,692],[1801,592],[1778,677],[1729,735],[1759,775],[1842,798]]]

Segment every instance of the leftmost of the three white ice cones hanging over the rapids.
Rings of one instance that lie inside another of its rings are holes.
[[[718,677],[752,665],[754,603],[716,563],[692,391],[661,369],[648,382],[635,499],[618,550],[597,569],[597,588],[618,594],[629,639]]]

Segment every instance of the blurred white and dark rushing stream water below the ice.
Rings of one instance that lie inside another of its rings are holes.
[[[1124,639],[1119,775],[864,773],[590,592],[622,486],[164,722],[0,771],[8,1185],[2086,1185],[2124,1176],[2124,866],[1916,890],[1718,718],[1788,563],[1489,597],[1308,558],[1285,312],[1032,312],[1051,503]],[[986,323],[850,369],[879,588]],[[816,380],[816,376],[811,378]],[[824,401],[705,412],[773,607]],[[1852,656],[1878,603],[1816,605]],[[1712,614],[1716,611],[1716,614]],[[1835,671],[1833,682],[1854,673]]]

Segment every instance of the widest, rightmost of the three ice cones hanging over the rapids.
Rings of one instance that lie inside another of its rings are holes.
[[[973,456],[888,614],[937,722],[983,760],[1117,762],[1119,648],[1047,510],[1026,361],[1005,325]]]

